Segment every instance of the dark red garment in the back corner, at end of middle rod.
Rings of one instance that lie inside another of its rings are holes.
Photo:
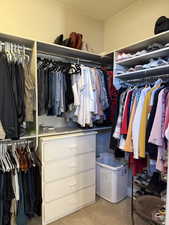
[[[110,104],[110,113],[108,120],[113,121],[114,115],[117,108],[117,97],[118,97],[118,91],[113,85],[113,72],[112,71],[106,71],[107,73],[107,86],[108,86],[108,93],[109,93],[109,104]]]

